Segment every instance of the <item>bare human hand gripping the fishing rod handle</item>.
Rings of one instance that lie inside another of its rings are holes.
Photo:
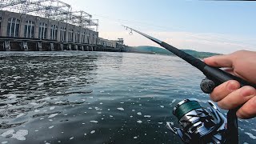
[[[256,52],[240,50],[232,54],[205,58],[209,66],[225,67],[226,71],[248,82],[256,84]],[[254,118],[256,116],[256,90],[252,86],[243,86],[231,80],[215,87],[210,94],[214,102],[222,109],[231,110],[242,106],[237,111],[238,118]]]

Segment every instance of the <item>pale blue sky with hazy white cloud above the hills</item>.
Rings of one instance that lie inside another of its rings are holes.
[[[128,46],[158,46],[130,26],[178,49],[230,54],[256,51],[256,2],[182,0],[62,0],[99,19],[99,36]],[[160,47],[160,46],[159,46]]]

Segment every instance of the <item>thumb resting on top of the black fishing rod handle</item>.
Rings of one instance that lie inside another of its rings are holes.
[[[210,58],[204,58],[204,62],[206,62],[207,65],[209,66],[214,66],[214,67],[232,67],[233,66],[233,61],[230,58],[230,55],[215,55]]]

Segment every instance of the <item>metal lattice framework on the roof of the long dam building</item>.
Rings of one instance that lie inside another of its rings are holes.
[[[98,31],[98,19],[59,0],[0,0],[0,10],[30,14]]]

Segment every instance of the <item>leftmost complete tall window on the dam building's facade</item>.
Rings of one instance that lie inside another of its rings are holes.
[[[7,26],[7,36],[18,37],[20,20],[17,18],[9,18]]]

